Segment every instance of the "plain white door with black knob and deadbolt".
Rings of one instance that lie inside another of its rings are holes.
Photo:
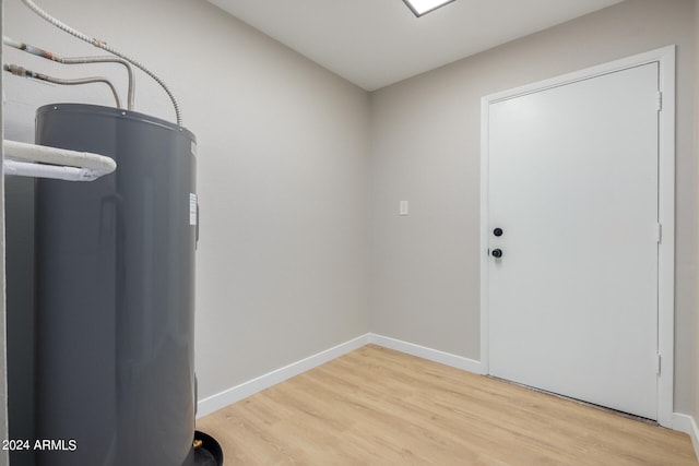
[[[653,62],[490,104],[491,374],[656,419],[657,101]]]

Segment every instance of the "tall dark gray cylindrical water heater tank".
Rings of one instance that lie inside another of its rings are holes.
[[[193,465],[194,135],[57,104],[37,110],[36,143],[117,163],[37,183],[37,464]]]

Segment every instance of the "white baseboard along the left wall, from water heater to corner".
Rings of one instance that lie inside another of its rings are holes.
[[[213,411],[239,402],[240,399],[254,395],[264,389],[269,389],[280,382],[284,382],[287,379],[339,358],[350,351],[354,351],[355,349],[367,345],[369,343],[369,338],[370,334],[358,336],[350,342],[325,349],[324,351],[309,356],[300,361],[292,362],[291,365],[276,369],[270,373],[260,375],[232,389],[201,399],[197,403],[197,418],[210,415]]]

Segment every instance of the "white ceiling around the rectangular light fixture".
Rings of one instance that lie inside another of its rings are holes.
[[[457,0],[415,17],[402,0],[209,0],[375,91],[623,0]]]

